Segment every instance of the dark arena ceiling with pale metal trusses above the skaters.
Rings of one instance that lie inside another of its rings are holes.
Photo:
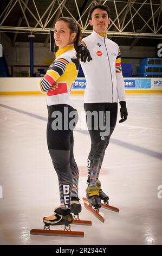
[[[12,41],[49,42],[49,30],[60,16],[71,16],[82,27],[83,35],[92,32],[89,10],[106,4],[111,13],[108,36],[119,45],[157,46],[162,38],[162,0],[3,0],[0,2],[0,32]]]

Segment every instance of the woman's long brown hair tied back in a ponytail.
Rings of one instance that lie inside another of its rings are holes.
[[[77,46],[79,42],[82,40],[82,31],[81,26],[71,17],[60,17],[57,21],[64,21],[68,24],[68,28],[70,29],[70,33],[76,33],[74,38],[74,47],[77,50]]]

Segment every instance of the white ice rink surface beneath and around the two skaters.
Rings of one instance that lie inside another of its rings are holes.
[[[105,223],[83,206],[90,137],[83,95],[72,95],[72,99],[81,120],[74,132],[80,218],[92,220],[92,227],[72,225],[72,230],[85,231],[83,238],[30,235],[30,229],[43,228],[42,217],[52,215],[60,205],[46,142],[46,96],[1,95],[0,244],[162,245],[162,94],[127,94],[125,123],[119,124],[118,112],[100,180],[109,204],[120,212],[101,209]]]

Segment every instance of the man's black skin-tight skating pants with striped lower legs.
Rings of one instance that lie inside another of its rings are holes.
[[[99,178],[105,150],[116,125],[118,103],[85,103],[84,108],[91,139],[91,149],[87,162],[87,184],[89,186],[95,186],[96,180]],[[92,115],[92,121],[88,121],[88,113],[94,114]],[[96,116],[98,119],[95,119]],[[104,127],[102,124],[106,127],[105,130],[103,130]]]

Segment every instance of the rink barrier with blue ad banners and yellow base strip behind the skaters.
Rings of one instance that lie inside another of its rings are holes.
[[[0,77],[0,94],[41,94],[39,77]],[[162,78],[124,78],[126,93],[161,93]],[[71,94],[84,94],[85,78],[76,78]]]

